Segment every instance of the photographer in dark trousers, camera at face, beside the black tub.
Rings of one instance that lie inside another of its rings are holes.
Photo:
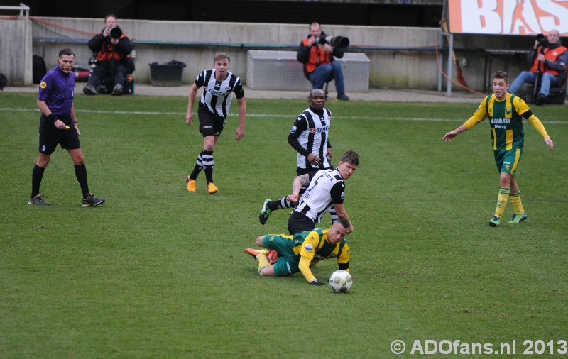
[[[116,16],[109,14],[104,18],[104,29],[89,40],[89,49],[97,53],[97,65],[89,76],[83,92],[96,95],[97,86],[107,77],[114,77],[113,96],[122,94],[124,77],[134,72],[134,62],[129,54],[133,45],[116,25]]]

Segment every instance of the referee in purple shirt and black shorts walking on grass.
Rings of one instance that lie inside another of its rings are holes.
[[[40,184],[45,167],[48,167],[51,154],[59,144],[71,155],[75,165],[75,176],[83,192],[82,206],[92,207],[104,203],[104,199],[96,198],[89,193],[87,184],[87,168],[79,143],[79,127],[73,105],[73,90],[75,89],[75,76],[71,74],[71,67],[75,61],[75,54],[70,49],[59,52],[58,67],[50,70],[40,82],[38,93],[38,108],[42,112],[40,118],[40,156],[33,167],[31,180],[31,196],[28,204],[36,206],[49,206],[40,194]]]

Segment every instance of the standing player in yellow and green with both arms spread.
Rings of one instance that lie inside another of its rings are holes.
[[[515,171],[521,155],[523,155],[523,142],[525,131],[523,131],[523,118],[526,118],[532,126],[545,138],[548,150],[552,150],[554,144],[550,136],[546,133],[545,126],[532,114],[523,99],[509,94],[509,77],[506,72],[498,71],[493,74],[493,94],[486,96],[481,101],[474,116],[471,116],[463,125],[452,132],[444,135],[444,142],[452,142],[452,138],[459,133],[469,130],[481,121],[489,118],[491,126],[491,142],[493,143],[493,155],[497,169],[501,173],[499,180],[501,189],[497,199],[497,208],[489,225],[496,227],[501,224],[501,216],[505,212],[507,200],[513,205],[515,214],[509,223],[520,223],[527,219],[527,212],[523,209],[520,202],[520,190],[515,180]],[[522,117],[521,117],[522,116]]]

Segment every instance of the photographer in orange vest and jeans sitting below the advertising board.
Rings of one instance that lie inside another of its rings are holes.
[[[540,91],[536,101],[537,106],[545,103],[550,87],[560,86],[564,82],[564,68],[568,64],[568,49],[560,42],[560,33],[557,30],[549,31],[548,35],[539,34],[535,45],[527,56],[532,63],[530,71],[521,72],[510,85],[508,92],[515,94],[520,87],[528,82],[537,85]],[[542,74],[542,77],[539,75]]]

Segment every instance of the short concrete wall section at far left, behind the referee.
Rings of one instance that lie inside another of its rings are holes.
[[[0,71],[8,86],[31,86],[32,27],[25,18],[0,21]]]

